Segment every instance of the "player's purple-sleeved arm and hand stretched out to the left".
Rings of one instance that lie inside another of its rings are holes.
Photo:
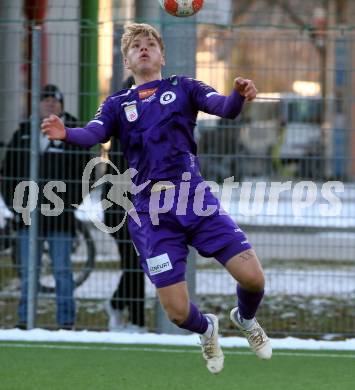
[[[85,127],[65,127],[63,121],[56,115],[45,118],[42,122],[42,132],[50,140],[61,140],[72,145],[90,148],[99,143],[107,142],[115,128],[114,112],[111,102],[107,99],[98,109],[95,118]]]

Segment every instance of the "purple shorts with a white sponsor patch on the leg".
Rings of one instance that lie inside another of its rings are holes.
[[[222,265],[251,248],[245,233],[221,208],[206,183],[202,183],[203,190],[196,191],[196,185],[192,185],[182,202],[175,188],[153,194],[158,197],[159,207],[163,205],[164,197],[166,200],[170,195],[172,199],[167,208],[160,209],[158,221],[149,198],[136,204],[141,226],[128,218],[131,239],[140,255],[141,266],[157,288],[185,280],[188,245],[204,257],[216,258]],[[202,207],[194,206],[196,193],[203,197]],[[214,211],[202,215],[207,205]]]

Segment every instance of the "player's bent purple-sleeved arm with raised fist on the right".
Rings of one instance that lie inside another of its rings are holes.
[[[255,99],[257,89],[252,80],[237,77],[233,82],[233,91],[229,96],[220,95],[212,87],[193,80],[192,97],[198,110],[221,118],[234,119],[242,108],[244,101]]]

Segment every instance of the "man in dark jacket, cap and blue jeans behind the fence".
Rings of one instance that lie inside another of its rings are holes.
[[[66,126],[76,126],[77,120],[64,111],[63,94],[55,85],[46,85],[41,93],[41,118],[51,114],[59,115]],[[40,131],[40,129],[38,129]],[[29,180],[30,175],[30,121],[20,124],[10,141],[2,165],[2,193],[7,205],[13,207],[13,196],[18,183]],[[75,231],[74,209],[71,204],[81,203],[82,172],[88,161],[88,152],[61,141],[49,141],[40,135],[39,156],[39,198],[37,207],[49,203],[43,196],[43,188],[49,181],[63,181],[66,191],[57,195],[64,201],[64,211],[58,216],[39,215],[38,245],[40,268],[43,242],[48,243],[56,282],[57,323],[61,328],[72,328],[75,324],[74,282],[70,253]],[[51,204],[53,208],[53,204]],[[21,275],[21,298],[19,303],[18,327],[26,328],[29,227],[17,217],[18,257]],[[39,274],[39,269],[37,274]]]

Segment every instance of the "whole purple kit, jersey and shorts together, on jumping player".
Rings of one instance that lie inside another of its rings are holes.
[[[201,191],[197,188],[204,184],[193,136],[198,111],[235,118],[243,102],[237,91],[221,96],[200,81],[172,76],[108,97],[85,128],[67,129],[68,142],[86,147],[118,137],[129,166],[138,171],[133,177],[136,185],[147,180],[174,182],[173,189],[162,195],[153,195],[153,187],[135,195],[141,225],[129,219],[142,267],[157,287],[184,280],[187,245],[194,246],[203,256],[215,257],[223,265],[251,248],[244,232],[228,215],[219,212],[219,201],[208,187],[204,202],[217,206],[215,211],[199,216],[194,209],[195,195]],[[177,189],[183,185],[182,174],[186,172],[191,174],[191,187],[183,196],[186,213],[181,214],[177,212]],[[161,213],[162,223],[157,226],[153,223],[150,200],[162,196],[160,202],[169,194],[174,194],[173,207]]]

